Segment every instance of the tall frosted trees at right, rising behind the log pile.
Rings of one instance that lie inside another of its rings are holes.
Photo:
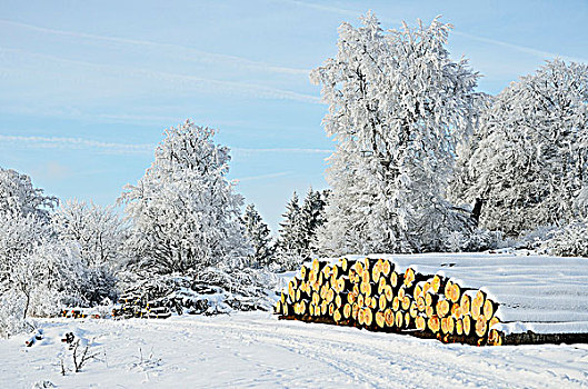
[[[588,66],[547,61],[488,96],[449,57],[450,29],[368,13],[311,72],[337,144],[319,253],[588,255]]]

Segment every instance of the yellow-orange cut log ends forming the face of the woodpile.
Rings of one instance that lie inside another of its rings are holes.
[[[313,260],[275,307],[280,319],[410,333],[444,342],[499,346],[498,302],[441,273],[400,269],[388,259]]]

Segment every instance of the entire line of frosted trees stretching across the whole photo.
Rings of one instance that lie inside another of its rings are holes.
[[[548,61],[488,96],[467,60],[449,57],[450,28],[385,31],[371,13],[341,26],[337,56],[311,72],[336,143],[330,188],[295,193],[276,236],[253,205],[243,213],[229,149],[191,121],[166,130],[123,189],[123,218],[59,205],[0,169],[0,335],[129,290],[196,313],[261,307],[272,272],[313,256],[504,246],[588,256],[588,67]]]

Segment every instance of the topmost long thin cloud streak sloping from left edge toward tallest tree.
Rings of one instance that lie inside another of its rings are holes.
[[[148,47],[148,48],[155,48],[155,49],[176,50],[176,51],[181,52],[182,54],[185,54],[187,58],[191,59],[192,61],[200,61],[200,62],[207,62],[207,63],[223,63],[223,64],[230,64],[237,68],[246,67],[249,69],[262,70],[266,72],[282,73],[282,74],[308,76],[308,73],[310,72],[310,69],[280,67],[280,66],[275,66],[275,64],[267,63],[267,62],[249,60],[247,58],[237,57],[237,56],[219,54],[215,52],[197,50],[197,49],[192,49],[186,46],[175,44],[175,43],[160,43],[160,42],[153,42],[153,41],[140,40],[140,39],[107,37],[107,36],[77,32],[77,31],[57,30],[57,29],[50,29],[50,28],[40,27],[40,26],[21,23],[21,22],[8,20],[8,19],[0,19],[0,23],[12,26],[12,27],[19,27],[19,28],[27,29],[30,31],[41,32],[43,34],[71,37],[71,38],[77,38],[77,39],[103,41],[103,42],[109,42],[109,43],[120,43],[120,44],[137,46],[137,47],[143,47],[143,48]]]

